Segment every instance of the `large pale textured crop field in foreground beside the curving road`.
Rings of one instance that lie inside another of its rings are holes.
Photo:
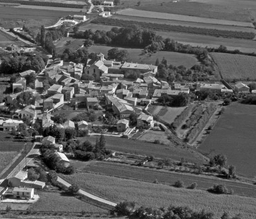
[[[88,192],[98,193],[102,197],[121,202],[134,201],[136,206],[168,207],[188,206],[197,211],[205,209],[220,217],[224,211],[232,216],[241,213],[243,218],[256,217],[256,199],[238,195],[216,195],[202,190],[174,188],[163,184],[139,182],[118,177],[109,177],[93,173],[75,173],[63,175],[71,183],[77,183]],[[177,178],[178,180],[178,178]]]

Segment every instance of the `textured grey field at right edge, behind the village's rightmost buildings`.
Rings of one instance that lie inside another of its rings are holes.
[[[211,53],[224,80],[255,80],[256,57]]]

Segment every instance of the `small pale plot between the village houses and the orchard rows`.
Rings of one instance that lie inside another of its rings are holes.
[[[169,64],[169,63],[168,63]],[[173,65],[173,64],[172,64]],[[158,115],[160,119],[172,124],[177,115],[185,109],[186,107],[165,107],[165,106],[151,106],[148,111],[153,115]],[[164,110],[164,112],[163,112]]]

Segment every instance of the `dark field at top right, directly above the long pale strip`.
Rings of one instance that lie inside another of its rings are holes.
[[[223,7],[220,5],[183,1],[163,3],[163,5],[142,5],[139,8],[140,10],[155,11],[162,13],[198,16],[204,18],[214,18],[230,21],[251,22],[250,16],[246,9],[238,9],[232,6],[232,4]]]

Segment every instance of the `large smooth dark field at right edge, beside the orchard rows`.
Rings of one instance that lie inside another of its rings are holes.
[[[211,134],[198,148],[202,153],[214,149],[212,156],[223,153],[227,165],[235,165],[236,172],[246,177],[256,177],[255,105],[233,103],[225,107]]]

